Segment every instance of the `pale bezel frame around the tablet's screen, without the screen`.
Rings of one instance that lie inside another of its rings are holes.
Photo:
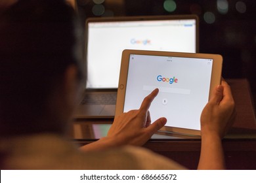
[[[123,50],[121,58],[121,69],[119,76],[119,85],[117,90],[116,115],[123,113],[125,103],[125,91],[127,84],[127,75],[129,70],[129,59],[131,54],[150,55],[150,56],[168,56],[168,57],[182,57],[182,58],[205,58],[213,59],[213,66],[211,72],[211,82],[209,89],[209,99],[213,95],[214,88],[221,83],[221,72],[223,65],[223,58],[218,54],[194,54],[194,53],[180,53],[180,52],[158,52],[145,50]],[[146,96],[145,96],[146,97]],[[165,126],[161,128],[162,131],[170,131],[175,133],[184,133],[189,135],[200,135],[200,130],[185,129],[179,127]]]

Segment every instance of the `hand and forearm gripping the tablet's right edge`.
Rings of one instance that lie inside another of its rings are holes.
[[[198,169],[225,169],[221,139],[232,125],[234,99],[222,80],[201,115],[201,154]]]

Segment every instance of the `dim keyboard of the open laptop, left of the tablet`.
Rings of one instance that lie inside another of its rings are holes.
[[[117,93],[86,93],[82,105],[116,105]]]

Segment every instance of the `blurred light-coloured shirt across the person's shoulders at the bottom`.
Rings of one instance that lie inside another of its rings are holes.
[[[41,134],[0,141],[1,169],[184,169],[145,148],[81,152],[71,141]]]

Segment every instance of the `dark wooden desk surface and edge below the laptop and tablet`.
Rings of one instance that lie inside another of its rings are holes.
[[[228,135],[223,139],[227,169],[256,169],[256,120],[249,84],[246,79],[227,80],[236,102],[237,116]],[[112,119],[75,120],[72,137],[74,143],[83,145],[106,135]],[[157,133],[144,144],[158,154],[196,169],[201,140],[198,137]]]

